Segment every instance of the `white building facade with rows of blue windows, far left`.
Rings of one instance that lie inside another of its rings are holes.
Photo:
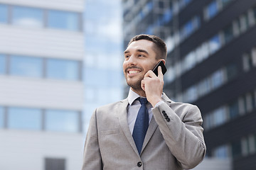
[[[0,169],[81,168],[83,12],[0,0]]]

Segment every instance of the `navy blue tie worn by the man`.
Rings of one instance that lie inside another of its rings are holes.
[[[146,135],[146,130],[149,127],[149,112],[146,108],[146,103],[148,103],[146,98],[139,98],[139,102],[142,104],[142,106],[139,108],[134,130],[132,132],[132,137],[134,138],[135,145],[140,154],[142,151],[144,137]]]

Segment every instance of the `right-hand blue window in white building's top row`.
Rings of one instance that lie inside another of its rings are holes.
[[[48,11],[48,27],[80,30],[80,15],[67,11]]]

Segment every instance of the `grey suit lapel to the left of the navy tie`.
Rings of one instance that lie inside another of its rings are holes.
[[[122,131],[124,132],[125,137],[127,137],[127,140],[129,144],[132,146],[135,152],[138,153],[137,147],[135,145],[134,139],[132,137],[131,132],[129,131],[129,126],[127,122],[127,106],[128,106],[128,100],[124,99],[121,101],[119,108],[117,111],[120,111],[119,113],[119,124],[122,128]]]

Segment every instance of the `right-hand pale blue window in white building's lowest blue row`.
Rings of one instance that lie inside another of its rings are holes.
[[[78,132],[79,113],[77,111],[46,111],[46,130]]]

